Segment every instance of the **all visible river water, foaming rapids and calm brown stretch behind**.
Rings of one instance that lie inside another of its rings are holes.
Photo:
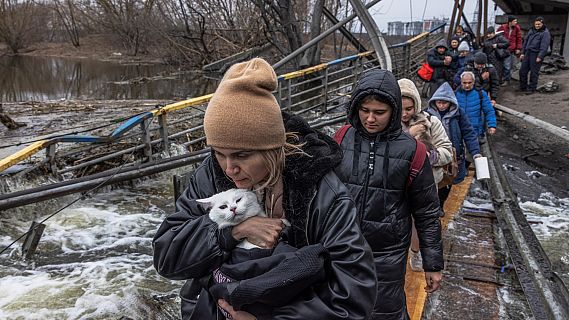
[[[57,70],[67,70],[61,71],[58,77],[62,82],[47,75],[45,78],[38,75],[44,81],[52,79],[54,90],[23,85],[33,78],[32,70],[28,70],[28,76],[21,76],[25,81],[14,80],[20,77],[16,71],[12,72],[12,80],[6,80],[8,77],[0,72],[2,98],[9,100],[13,97],[13,100],[20,101],[69,97],[159,99],[186,96],[189,93],[185,92],[190,92],[184,91],[186,80],[167,80],[169,85],[164,85],[163,89],[138,91],[128,89],[128,85],[123,87],[124,84],[114,83],[142,75],[153,77],[157,73],[152,72],[164,72],[164,67],[141,67],[127,75],[121,75],[122,71],[112,76],[112,72],[102,72],[104,76],[95,72],[87,77],[87,70],[99,68],[103,71],[108,67],[124,68],[122,70],[128,72],[125,70],[130,70],[130,67],[109,67],[105,63],[96,67],[101,63],[83,61],[79,67],[81,77],[73,80],[76,61],[50,58],[44,62],[50,66],[44,66],[46,70],[51,70],[53,75],[59,74]],[[30,69],[26,64],[15,68],[22,72]],[[148,73],[140,73],[140,70]],[[77,80],[79,78],[81,80]],[[7,87],[10,81],[22,84]],[[192,82],[187,81],[189,86]],[[63,90],[66,83],[73,89]],[[158,177],[138,181],[134,186],[106,189],[81,200],[46,222],[44,235],[32,260],[22,260],[20,243],[0,256],[0,319],[178,317],[179,298],[175,294],[182,282],[166,280],[156,273],[152,265],[151,240],[161,221],[174,209],[172,174],[188,170],[165,172]],[[539,176],[529,169],[526,172],[530,179]],[[75,197],[67,196],[46,205],[32,205],[0,214],[0,249],[26,232],[32,219],[43,219]],[[569,199],[556,196],[554,191],[543,190],[533,199],[521,200],[521,206],[532,221],[534,231],[555,269],[569,283]]]

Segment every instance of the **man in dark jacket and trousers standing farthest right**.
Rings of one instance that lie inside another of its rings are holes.
[[[522,47],[522,66],[520,67],[520,91],[526,94],[533,94],[537,90],[539,80],[539,69],[545,56],[549,53],[551,45],[551,34],[543,23],[542,17],[535,18],[533,28],[531,28],[525,38]],[[528,73],[530,73],[528,84]]]

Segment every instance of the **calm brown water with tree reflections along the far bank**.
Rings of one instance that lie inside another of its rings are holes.
[[[0,101],[175,99],[213,92],[213,85],[199,73],[179,73],[165,65],[52,57],[0,58]]]

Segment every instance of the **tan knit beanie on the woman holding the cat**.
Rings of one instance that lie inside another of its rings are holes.
[[[207,144],[241,150],[269,150],[285,144],[281,109],[272,91],[277,75],[265,60],[231,66],[204,116]]]

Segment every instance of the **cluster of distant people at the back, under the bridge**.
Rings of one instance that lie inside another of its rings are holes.
[[[497,30],[488,27],[479,43],[473,39],[471,33],[458,26],[448,45],[441,40],[427,53],[427,63],[434,69],[429,96],[444,82],[456,89],[461,74],[471,71],[475,75],[475,88],[486,91],[495,105],[500,86],[510,84],[517,59],[521,60],[519,90],[526,94],[536,92],[542,61],[551,52],[551,35],[542,17],[534,19],[525,38],[517,18],[510,15],[508,23]]]

